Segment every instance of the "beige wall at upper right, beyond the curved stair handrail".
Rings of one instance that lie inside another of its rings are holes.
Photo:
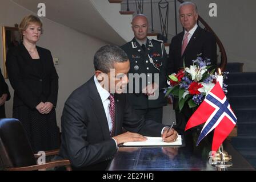
[[[227,51],[229,62],[244,63],[245,72],[256,71],[256,1],[251,0],[194,0],[203,19],[213,28]],[[218,16],[209,16],[209,4],[218,7]]]

